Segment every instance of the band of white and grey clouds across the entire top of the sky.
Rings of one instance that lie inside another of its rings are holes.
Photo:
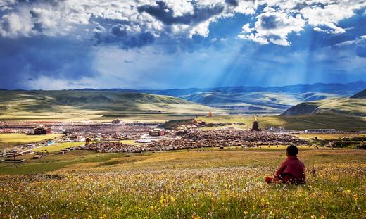
[[[0,0],[0,37],[71,35],[80,39],[92,37],[85,30],[98,25],[106,30],[124,25],[130,35],[207,37],[210,23],[241,13],[256,20],[252,27],[244,25],[239,38],[288,46],[287,37],[300,33],[305,25],[328,34],[346,32],[339,22],[365,7],[365,0],[237,0],[234,4],[223,0]]]

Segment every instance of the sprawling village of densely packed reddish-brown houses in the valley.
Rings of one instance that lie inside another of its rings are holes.
[[[208,113],[212,117],[212,113]],[[56,122],[1,122],[1,133],[19,133],[27,135],[58,134],[55,139],[44,139],[31,144],[17,145],[12,149],[0,151],[3,163],[22,163],[20,158],[25,154],[34,154],[33,159],[50,154],[42,147],[55,143],[80,142],[78,146],[69,146],[56,154],[67,154],[75,150],[96,151],[99,153],[141,153],[144,151],[172,151],[182,149],[202,149],[207,147],[260,147],[280,145],[310,146],[310,142],[298,138],[294,133],[334,133],[336,130],[304,130],[303,132],[285,130],[283,127],[260,129],[257,116],[251,129],[242,130],[228,125],[244,125],[244,123],[205,123],[192,119],[180,123],[169,130],[162,124],[123,123],[120,119],[110,123],[56,123]],[[203,130],[202,128],[213,128]],[[327,142],[330,146],[334,142]],[[55,153],[55,152],[53,152]]]

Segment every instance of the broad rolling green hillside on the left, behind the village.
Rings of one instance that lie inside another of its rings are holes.
[[[107,91],[0,91],[0,120],[167,120],[213,108],[154,94]]]

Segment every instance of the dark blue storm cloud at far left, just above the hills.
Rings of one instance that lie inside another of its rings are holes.
[[[27,88],[39,77],[92,77],[92,47],[46,37],[0,39],[1,88]]]

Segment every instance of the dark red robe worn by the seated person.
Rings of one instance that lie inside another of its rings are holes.
[[[297,156],[288,156],[274,175],[274,180],[284,183],[305,183],[305,165]]]

